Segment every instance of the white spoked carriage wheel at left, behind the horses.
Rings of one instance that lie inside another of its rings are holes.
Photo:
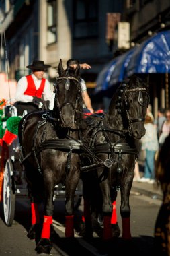
[[[15,184],[13,181],[13,162],[7,159],[3,174],[3,214],[5,224],[13,224],[15,214]]]

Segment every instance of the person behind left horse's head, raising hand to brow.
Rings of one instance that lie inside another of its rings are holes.
[[[69,59],[67,61],[67,67],[73,67],[74,69],[77,66],[77,61],[76,59]],[[87,63],[80,63],[79,64],[81,69],[91,69],[91,66]],[[82,97],[83,97],[83,103],[84,103],[84,112],[85,113],[94,113],[93,107],[91,105],[91,98],[89,97],[89,94],[87,92],[87,86],[85,84],[85,80],[81,78],[81,90],[82,90]]]

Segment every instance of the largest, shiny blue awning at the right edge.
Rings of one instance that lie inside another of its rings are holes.
[[[126,75],[134,73],[170,73],[170,30],[159,32],[136,47]]]

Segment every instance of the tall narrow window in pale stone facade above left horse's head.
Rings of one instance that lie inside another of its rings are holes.
[[[47,6],[47,43],[56,42],[56,0],[49,0]]]

